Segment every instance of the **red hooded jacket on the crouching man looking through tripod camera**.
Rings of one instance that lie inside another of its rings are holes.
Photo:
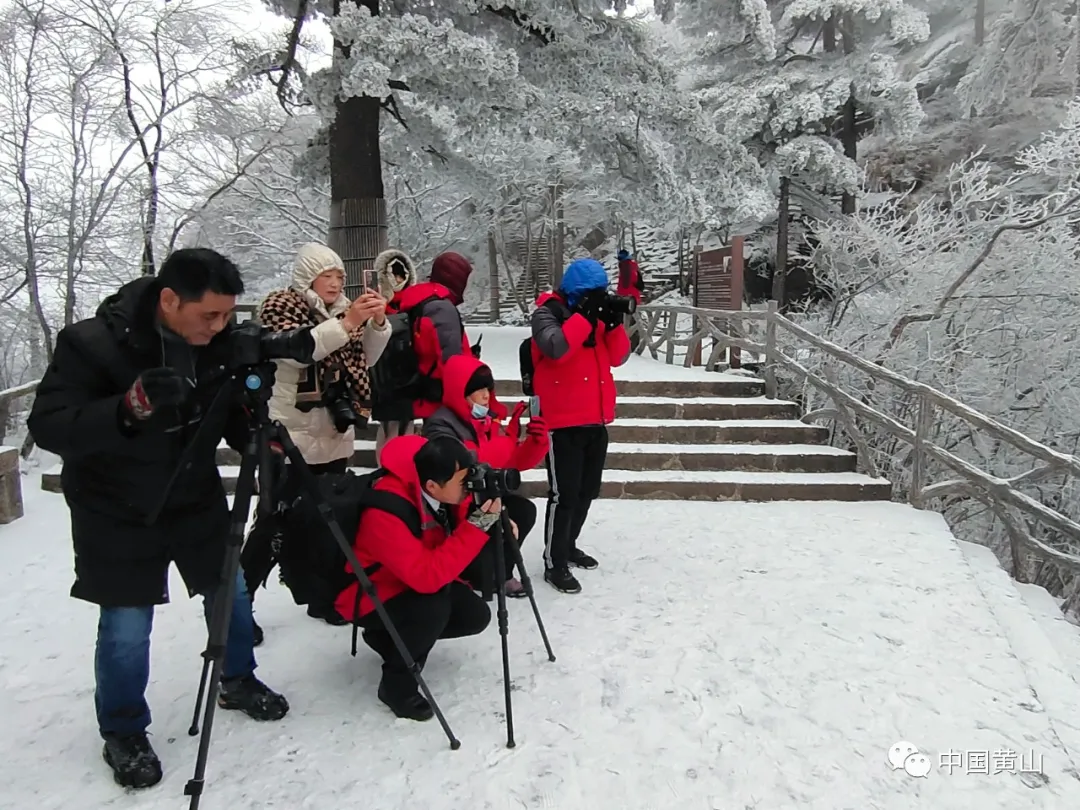
[[[459,507],[449,507],[457,518],[453,532],[447,534],[435,521],[421,495],[420,476],[413,462],[427,441],[413,435],[387,442],[382,449],[382,468],[388,474],[374,487],[399,495],[416,505],[421,515],[420,539],[417,540],[401,518],[368,508],[360,517],[360,528],[352,544],[362,566],[367,568],[381,564],[382,567],[372,573],[370,579],[376,595],[383,602],[407,590],[435,593],[458,579],[488,541],[486,531],[465,522],[468,500]],[[351,571],[352,566],[348,566],[348,570]],[[335,608],[347,619],[355,620],[375,609],[365,594],[360,600],[360,612],[353,617],[359,588],[360,583],[354,581],[338,594]]]

